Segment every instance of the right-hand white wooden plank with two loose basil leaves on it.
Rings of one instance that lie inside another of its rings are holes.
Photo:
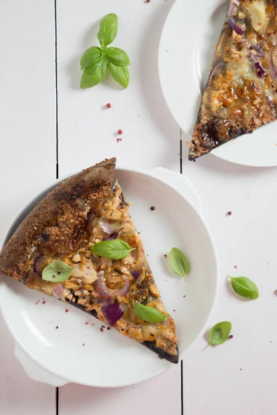
[[[220,295],[208,327],[224,320],[233,324],[233,339],[204,350],[202,338],[186,356],[184,413],[275,414],[276,169],[233,165],[215,156],[190,163],[186,149],[183,167],[202,197],[220,259]],[[260,298],[234,295],[227,275],[251,278]]]

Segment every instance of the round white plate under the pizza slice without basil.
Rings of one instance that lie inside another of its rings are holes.
[[[163,26],[159,76],[168,107],[191,138],[228,1],[176,0]],[[277,165],[277,122],[213,150],[224,160],[256,167]]]

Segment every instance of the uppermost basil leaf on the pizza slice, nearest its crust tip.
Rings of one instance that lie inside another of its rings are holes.
[[[125,241],[121,239],[112,239],[111,241],[101,241],[94,243],[91,246],[92,252],[99,257],[111,258],[111,259],[122,259],[127,257],[132,250],[136,248],[131,248]]]

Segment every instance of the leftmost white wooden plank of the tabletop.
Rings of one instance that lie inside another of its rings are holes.
[[[55,180],[53,3],[0,3],[0,240],[26,204]],[[28,379],[0,317],[0,413],[55,414],[55,388]]]

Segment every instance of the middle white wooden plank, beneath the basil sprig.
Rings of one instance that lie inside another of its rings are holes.
[[[60,176],[111,156],[134,169],[157,166],[179,172],[179,127],[170,116],[159,85],[157,55],[163,22],[173,1],[57,1],[57,68]],[[97,44],[100,19],[118,15],[114,46],[129,54],[126,91],[110,77],[93,89],[80,90],[80,56]],[[105,108],[107,102],[111,108]],[[121,142],[116,131],[123,130]],[[93,352],[93,351],[92,351]],[[170,385],[170,389],[169,389]],[[120,389],[60,388],[60,414],[141,414],[138,396],[148,412],[181,414],[180,366],[141,385]],[[141,399],[141,398],[140,398]]]

